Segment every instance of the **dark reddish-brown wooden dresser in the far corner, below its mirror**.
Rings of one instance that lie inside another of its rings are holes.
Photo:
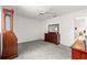
[[[51,42],[54,44],[59,44],[59,34],[58,33],[45,33],[44,34],[44,41]]]

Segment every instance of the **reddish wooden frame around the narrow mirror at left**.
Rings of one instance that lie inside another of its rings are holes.
[[[11,10],[9,10],[9,9],[3,9],[2,10],[2,32],[7,32],[6,31],[6,17],[9,14],[9,13],[11,13],[10,15],[10,31],[12,31],[13,32],[13,13],[14,13],[14,10],[13,9],[11,9]]]

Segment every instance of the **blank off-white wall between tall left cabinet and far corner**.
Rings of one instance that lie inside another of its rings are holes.
[[[14,15],[13,31],[19,43],[42,40],[44,34],[43,22],[20,15]]]

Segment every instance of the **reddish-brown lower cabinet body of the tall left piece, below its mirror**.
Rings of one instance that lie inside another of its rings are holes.
[[[13,32],[3,33],[2,58],[13,58],[18,56],[18,39]]]

